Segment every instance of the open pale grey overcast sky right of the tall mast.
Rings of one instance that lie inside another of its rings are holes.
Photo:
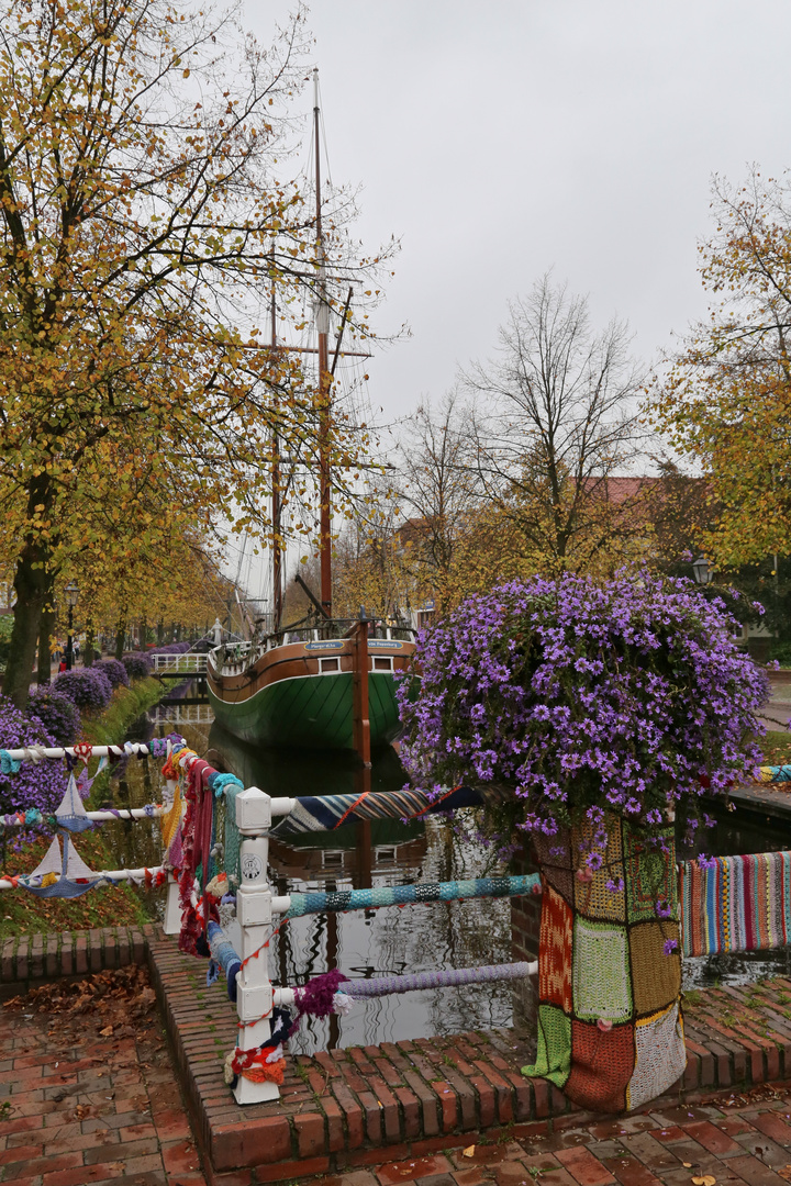
[[[287,0],[245,0],[267,44]],[[387,419],[487,357],[546,269],[629,320],[645,361],[706,311],[713,173],[791,165],[789,0],[320,0],[310,12],[336,183],[402,241],[371,362]],[[299,100],[310,109],[306,90]]]

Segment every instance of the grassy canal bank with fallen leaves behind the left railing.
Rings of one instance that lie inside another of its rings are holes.
[[[125,740],[129,725],[162,697],[159,680],[148,676],[136,680],[129,688],[116,688],[113,700],[102,713],[84,713],[83,741],[93,745],[114,745]],[[94,782],[90,803],[101,803],[108,793],[106,772]],[[51,837],[42,837],[21,853],[6,852],[4,869],[9,873],[30,873],[44,856]],[[101,831],[77,836],[77,852],[91,869],[114,868],[113,857]],[[36,935],[47,931],[82,931],[100,926],[130,926],[147,923],[151,914],[141,897],[128,884],[91,890],[82,898],[37,898],[25,890],[9,891],[0,898],[0,938],[13,935]]]

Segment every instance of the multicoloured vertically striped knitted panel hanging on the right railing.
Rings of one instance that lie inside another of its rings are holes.
[[[685,956],[786,946],[791,939],[791,853],[684,861],[681,903]]]

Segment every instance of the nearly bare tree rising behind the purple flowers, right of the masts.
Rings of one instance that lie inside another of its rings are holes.
[[[465,376],[478,495],[516,528],[532,572],[607,569],[643,548],[643,491],[611,480],[638,452],[643,372],[629,346],[625,324],[594,333],[585,298],[546,275],[511,302],[497,357]]]

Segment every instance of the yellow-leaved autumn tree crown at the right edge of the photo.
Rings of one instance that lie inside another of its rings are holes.
[[[693,327],[650,412],[717,503],[721,566],[791,553],[791,184],[716,179],[701,247],[709,317]]]

